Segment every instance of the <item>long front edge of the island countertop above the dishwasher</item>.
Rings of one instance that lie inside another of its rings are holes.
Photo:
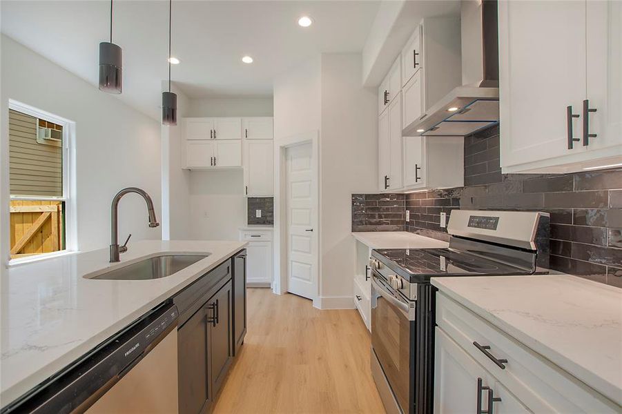
[[[85,339],[83,342],[81,342],[81,344],[77,345],[75,348],[70,349],[70,351],[68,351],[64,355],[61,355],[60,357],[54,359],[52,362],[41,366],[41,368],[39,368],[37,371],[28,375],[28,377],[25,377],[23,378],[23,380],[20,380],[9,388],[6,388],[6,390],[2,391],[2,393],[0,394],[0,407],[4,408],[5,406],[14,402],[23,395],[26,395],[26,393],[30,392],[32,388],[35,388],[42,382],[45,382],[46,380],[48,380],[48,378],[57,374],[59,371],[66,368],[66,366],[68,366],[72,362],[75,362],[83,355],[86,355],[86,353],[92,351],[106,339],[115,335],[115,333],[121,331],[123,328],[142,317],[142,315],[147,313],[147,311],[150,311],[150,309],[153,309],[155,306],[161,304],[166,299],[173,297],[173,295],[183,290],[187,286],[191,285],[197,279],[202,277],[206,272],[213,270],[214,268],[222,264],[225,259],[233,257],[235,253],[244,249],[249,244],[248,242],[244,241],[228,242],[235,243],[235,246],[237,247],[226,250],[228,253],[222,253],[218,259],[215,259],[207,266],[202,267],[201,270],[195,270],[194,275],[186,277],[174,288],[171,288],[165,293],[162,293],[161,295],[158,295],[157,297],[151,299],[143,306],[137,308],[136,311],[133,311],[129,315],[126,315],[125,317],[122,317],[122,319],[119,319],[117,322],[115,322],[115,324],[112,324],[103,331],[100,331],[99,333],[89,337],[88,339]],[[166,249],[155,250],[153,253],[159,253],[163,251],[166,251]],[[37,377],[38,380],[34,380],[35,377]]]

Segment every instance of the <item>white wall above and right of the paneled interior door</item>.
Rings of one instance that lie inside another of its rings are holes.
[[[275,144],[320,132],[320,270],[315,306],[353,307],[352,193],[376,193],[376,91],[361,86],[359,54],[324,53],[274,82]],[[275,199],[275,214],[283,207]],[[275,234],[280,243],[283,235]],[[275,248],[275,269],[284,268]],[[278,275],[278,273],[276,273]]]

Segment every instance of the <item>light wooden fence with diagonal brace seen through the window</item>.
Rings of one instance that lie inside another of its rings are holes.
[[[10,202],[11,258],[63,250],[61,201]]]

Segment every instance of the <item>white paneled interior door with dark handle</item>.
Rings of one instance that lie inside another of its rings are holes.
[[[311,144],[285,150],[287,290],[315,299],[318,295],[315,237],[317,201]]]

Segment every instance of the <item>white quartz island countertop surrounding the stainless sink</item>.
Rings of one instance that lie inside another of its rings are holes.
[[[246,242],[142,241],[121,262],[108,248],[2,269],[0,404],[6,406],[108,337],[215,268]],[[83,276],[157,253],[211,253],[162,279],[99,280]]]

